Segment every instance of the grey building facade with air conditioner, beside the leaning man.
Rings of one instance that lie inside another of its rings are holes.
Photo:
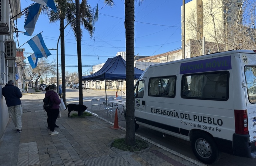
[[[9,121],[2,88],[9,80],[16,81],[15,20],[20,18],[20,0],[0,0],[0,138]]]

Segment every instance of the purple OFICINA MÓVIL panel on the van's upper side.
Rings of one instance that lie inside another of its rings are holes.
[[[232,69],[231,56],[223,56],[218,58],[181,63],[180,74],[228,69]]]

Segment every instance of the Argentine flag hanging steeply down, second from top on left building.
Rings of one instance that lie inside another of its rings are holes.
[[[29,7],[28,17],[24,25],[24,29],[26,30],[24,35],[31,36],[33,34],[42,7],[43,5],[39,3],[35,3]]]

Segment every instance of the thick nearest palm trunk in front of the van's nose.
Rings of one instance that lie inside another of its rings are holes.
[[[125,0],[126,131],[125,143],[135,145],[134,128],[134,0]]]

